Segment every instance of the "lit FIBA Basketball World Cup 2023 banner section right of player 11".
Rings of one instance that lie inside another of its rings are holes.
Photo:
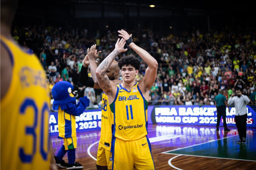
[[[247,127],[256,127],[256,107],[247,106]],[[226,122],[228,126],[236,126],[234,116],[236,108],[226,108]],[[148,124],[171,125],[211,125],[216,126],[217,109],[215,105],[204,106],[148,106]],[[223,119],[220,126],[223,125]]]

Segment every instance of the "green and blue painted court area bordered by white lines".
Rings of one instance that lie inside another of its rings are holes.
[[[237,144],[238,140],[239,136],[231,136],[163,153],[256,161],[256,136],[247,136],[245,144]]]

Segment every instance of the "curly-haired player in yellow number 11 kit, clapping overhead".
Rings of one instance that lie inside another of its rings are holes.
[[[154,170],[151,145],[147,138],[147,103],[149,90],[156,79],[157,61],[145,50],[132,42],[131,35],[126,31],[118,31],[119,36],[115,50],[105,58],[96,70],[100,87],[108,95],[111,111],[114,113],[112,138],[112,169]],[[123,83],[115,85],[106,76],[106,70],[114,58],[125,52],[127,43],[148,64],[145,76],[139,83],[135,77],[139,72],[139,60],[130,55],[121,58]]]

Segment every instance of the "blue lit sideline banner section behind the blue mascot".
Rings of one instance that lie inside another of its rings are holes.
[[[80,116],[75,117],[76,132],[96,130],[101,128],[101,109],[85,110]],[[49,119],[49,132],[58,135],[58,112],[51,112]]]

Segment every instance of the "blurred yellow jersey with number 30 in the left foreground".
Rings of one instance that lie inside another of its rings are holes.
[[[12,80],[1,100],[1,169],[49,169],[49,91],[35,55],[1,35]],[[1,82],[3,84],[4,82]]]

